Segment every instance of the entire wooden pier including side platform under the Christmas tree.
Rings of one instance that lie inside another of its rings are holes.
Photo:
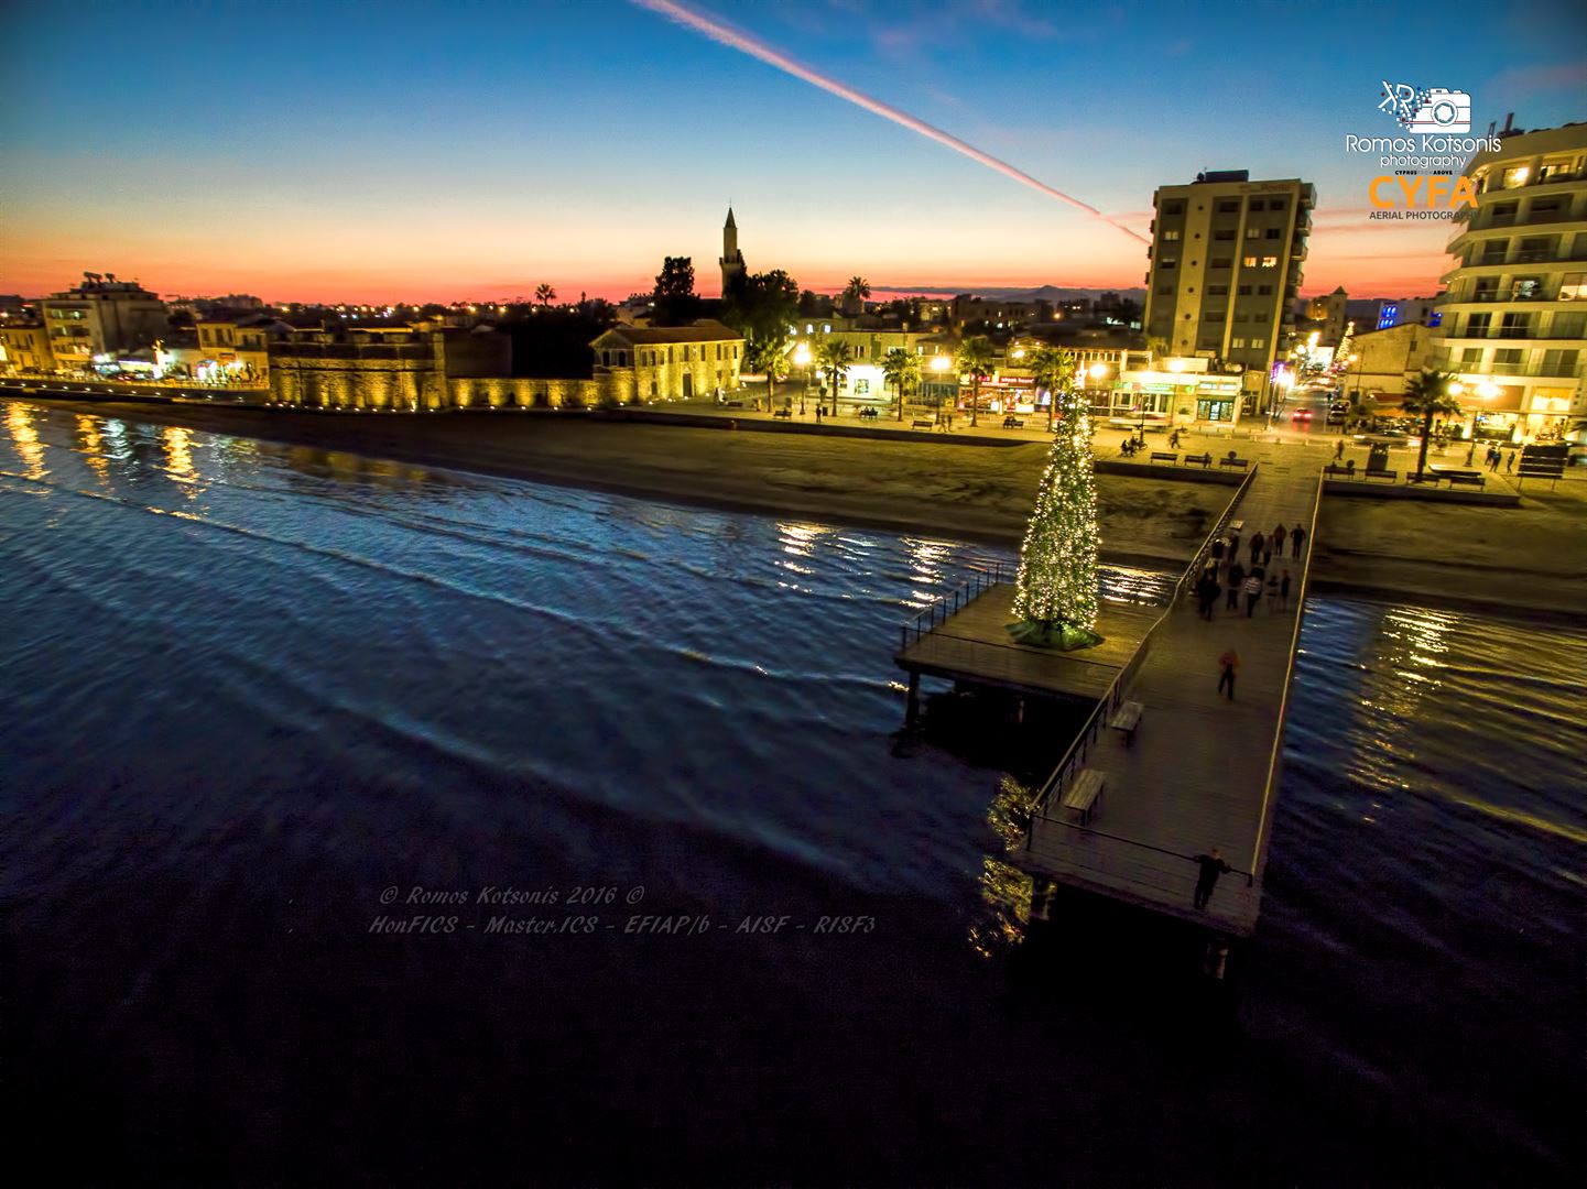
[[[1320,494],[1316,467],[1252,467],[1170,606],[1108,605],[1111,616],[1098,624],[1108,641],[1098,649],[1013,645],[1003,629],[1013,597],[1006,581],[987,581],[914,640],[906,629],[898,664],[909,670],[911,716],[920,673],[1095,702],[1036,795],[1025,848],[1011,862],[1038,883],[1081,887],[1217,933],[1255,930]],[[1233,522],[1243,525],[1241,565],[1249,565],[1247,543],[1258,530],[1300,524],[1308,537],[1300,557],[1285,540],[1284,556],[1274,552],[1268,567],[1290,573],[1287,606],[1263,594],[1247,618],[1244,597],[1232,611],[1220,592],[1206,622],[1192,587],[1211,543]],[[1219,657],[1230,648],[1239,657],[1233,700],[1217,691]],[[1193,857],[1214,848],[1235,870],[1198,910]]]

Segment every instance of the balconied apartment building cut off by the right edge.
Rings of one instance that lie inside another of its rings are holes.
[[[1587,414],[1587,124],[1503,135],[1465,171],[1435,365],[1479,437],[1549,440]]]

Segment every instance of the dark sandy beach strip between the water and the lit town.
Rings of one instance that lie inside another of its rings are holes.
[[[5,395],[83,416],[1014,552],[1047,454],[1038,443],[997,443],[978,451],[966,441],[952,451],[922,451],[905,441],[587,417],[363,421],[246,406]],[[1101,560],[1173,573],[1182,571],[1233,495],[1216,484],[1116,473],[1100,473],[1097,486]],[[1311,587],[1374,602],[1409,600],[1587,624],[1581,597],[1587,583],[1587,516],[1579,497],[1557,497],[1555,503],[1562,500],[1571,506],[1544,506],[1528,516],[1525,508],[1324,497]],[[1544,502],[1533,497],[1533,503]],[[1531,524],[1539,516],[1554,519],[1539,529]],[[1516,533],[1524,524],[1530,535]],[[1538,540],[1539,532],[1546,540]],[[1555,540],[1555,533],[1565,535]],[[1330,548],[1330,541],[1343,543]],[[1362,541],[1378,548],[1363,549]],[[1527,565],[1539,557],[1555,565]],[[1451,586],[1452,578],[1458,578],[1458,587]]]

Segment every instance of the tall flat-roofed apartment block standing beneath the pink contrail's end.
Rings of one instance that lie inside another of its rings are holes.
[[[1198,419],[1236,421],[1268,395],[1295,325],[1316,202],[1311,183],[1251,181],[1246,170],[1203,173],[1152,195],[1147,341],[1241,376],[1241,398],[1198,402]]]

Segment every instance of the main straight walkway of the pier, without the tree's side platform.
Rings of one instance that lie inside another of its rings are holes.
[[[1181,584],[1133,671],[1122,675],[1041,791],[1027,848],[1016,856],[1030,875],[1233,935],[1255,929],[1319,495],[1320,478],[1303,462],[1270,462],[1252,475],[1225,514],[1244,529],[1241,564],[1249,560],[1252,533],[1271,533],[1279,524],[1308,530],[1301,556],[1289,557],[1285,543],[1268,570],[1289,570],[1287,606],[1263,594],[1247,616],[1244,598],[1227,610],[1220,595],[1206,622],[1190,583]],[[1225,649],[1239,657],[1233,700],[1217,691]],[[1133,740],[1106,724],[1125,702],[1143,708]],[[1082,825],[1062,800],[1084,772],[1103,773],[1103,794]],[[1236,873],[1219,881],[1206,910],[1197,910],[1193,856],[1212,848]]]

